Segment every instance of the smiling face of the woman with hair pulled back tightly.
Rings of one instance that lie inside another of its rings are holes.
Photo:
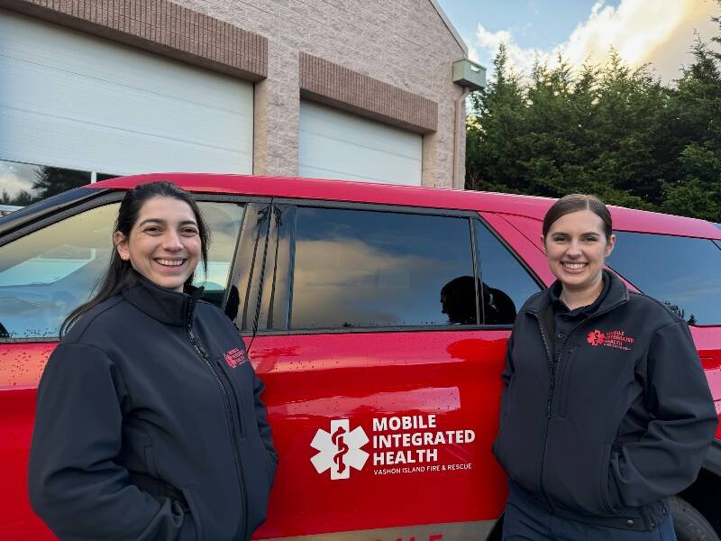
[[[562,215],[552,223],[543,240],[548,265],[564,288],[593,288],[601,280],[606,258],[616,243],[604,233],[601,218],[588,209]]]

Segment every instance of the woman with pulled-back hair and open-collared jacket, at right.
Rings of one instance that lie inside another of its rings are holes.
[[[561,197],[542,242],[557,280],[518,312],[503,372],[504,540],[672,541],[668,497],[717,423],[689,327],[604,270],[616,235],[597,197]]]

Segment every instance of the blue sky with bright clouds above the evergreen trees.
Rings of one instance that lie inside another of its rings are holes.
[[[693,61],[694,32],[704,41],[718,33],[716,0],[438,0],[469,57],[491,67],[498,44],[511,65],[528,74],[538,57],[554,65],[603,62],[610,47],[633,67],[650,63],[666,83]],[[489,71],[489,75],[492,74]]]

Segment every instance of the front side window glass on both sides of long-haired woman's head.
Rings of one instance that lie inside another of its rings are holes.
[[[199,203],[211,232],[208,273],[196,272],[204,298],[220,306],[243,206]],[[58,335],[68,313],[87,301],[113,249],[119,203],[100,206],[0,247],[0,338]]]

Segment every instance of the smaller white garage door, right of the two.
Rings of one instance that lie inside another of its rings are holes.
[[[423,137],[301,101],[298,174],[315,179],[421,185]]]

